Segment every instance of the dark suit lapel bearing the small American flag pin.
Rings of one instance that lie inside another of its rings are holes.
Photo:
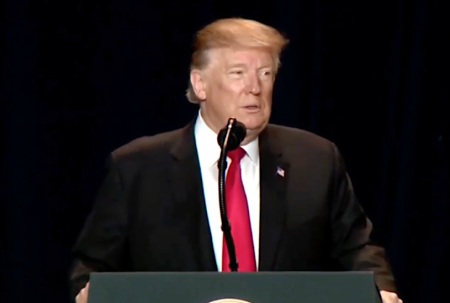
[[[271,271],[284,226],[289,164],[282,160],[282,151],[270,126],[260,135],[260,164],[259,270]]]

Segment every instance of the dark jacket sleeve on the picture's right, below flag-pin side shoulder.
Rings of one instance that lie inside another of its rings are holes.
[[[349,271],[373,271],[380,290],[396,291],[385,250],[371,240],[372,222],[358,203],[344,161],[333,144],[332,256]]]

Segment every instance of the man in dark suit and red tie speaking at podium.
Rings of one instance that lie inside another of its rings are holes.
[[[239,269],[374,271],[383,302],[402,302],[384,250],[370,242],[371,222],[336,146],[268,125],[286,43],[275,29],[237,18],[197,34],[187,97],[199,104],[199,114],[183,129],[134,140],[111,154],[74,250],[78,303],[86,302],[93,271],[229,270],[217,134],[231,117],[247,129],[229,153],[226,179]]]

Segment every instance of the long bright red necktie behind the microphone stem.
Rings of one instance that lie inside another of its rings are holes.
[[[245,151],[241,147],[228,152],[231,164],[225,183],[225,203],[236,249],[238,271],[256,271],[247,197],[241,178],[240,162],[244,156]],[[230,258],[225,239],[222,252],[222,271],[230,271]]]

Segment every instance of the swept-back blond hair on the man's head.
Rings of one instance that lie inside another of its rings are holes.
[[[208,63],[208,51],[223,47],[267,48],[272,53],[275,71],[280,66],[280,53],[288,40],[275,28],[258,21],[227,18],[208,24],[197,32],[194,40],[194,52],[191,57],[191,71],[203,69]],[[189,81],[186,97],[191,103],[199,103]]]

